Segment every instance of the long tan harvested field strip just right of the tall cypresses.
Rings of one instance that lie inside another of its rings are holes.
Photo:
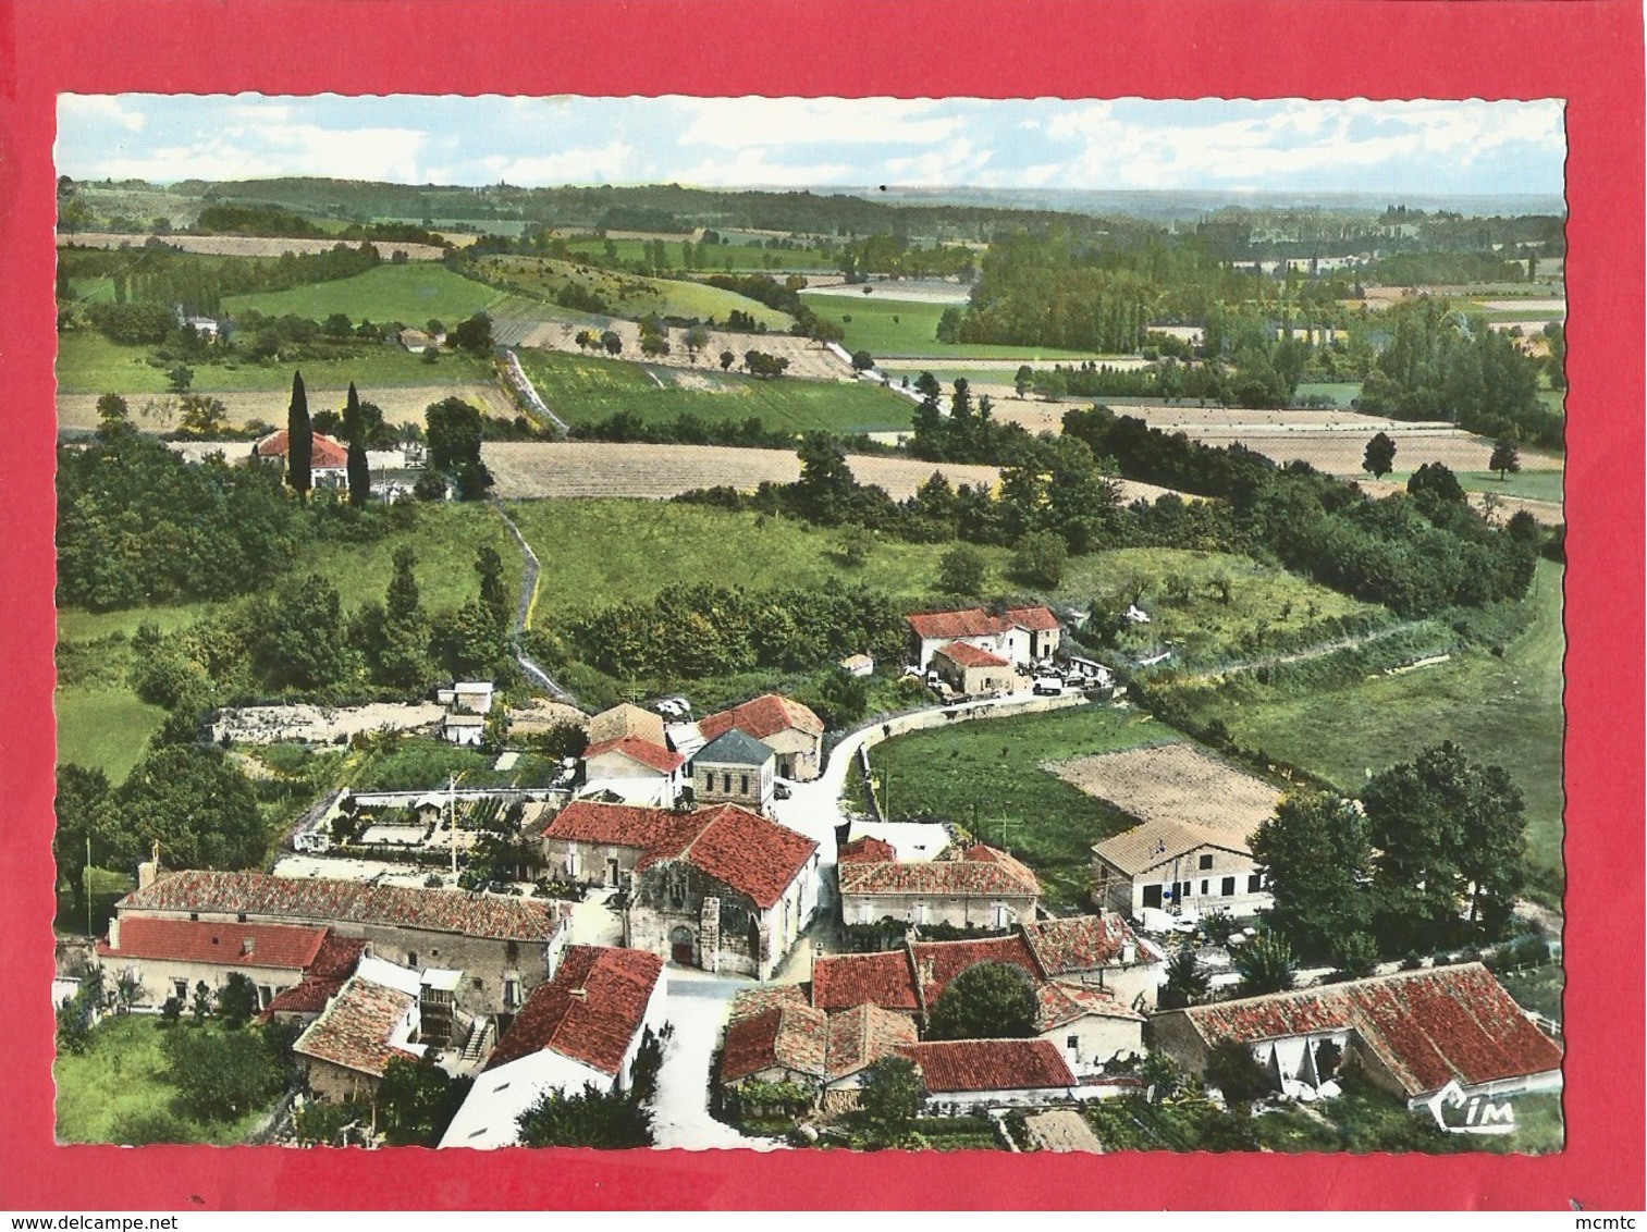
[[[693,488],[753,491],[763,483],[794,483],[800,461],[787,450],[738,450],[721,445],[608,445],[604,441],[489,441],[481,458],[506,501],[535,497],[637,496],[669,499]],[[912,496],[934,471],[955,484],[993,484],[993,466],[922,463],[853,455],[847,461],[861,483],[879,484],[893,499]]]

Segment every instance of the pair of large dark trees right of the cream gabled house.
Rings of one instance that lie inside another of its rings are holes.
[[[1364,973],[1379,957],[1495,940],[1527,881],[1522,792],[1451,741],[1367,781],[1360,807],[1290,796],[1253,835],[1270,927],[1306,959]]]

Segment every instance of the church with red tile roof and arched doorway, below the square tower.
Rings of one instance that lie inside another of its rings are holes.
[[[624,944],[768,978],[817,911],[819,848],[748,809],[575,800],[539,835],[558,876],[629,889]]]

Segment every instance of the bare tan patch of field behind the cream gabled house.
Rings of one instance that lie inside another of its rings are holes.
[[[1102,753],[1044,766],[1064,782],[1145,822],[1189,822],[1245,838],[1281,792],[1192,744]]]

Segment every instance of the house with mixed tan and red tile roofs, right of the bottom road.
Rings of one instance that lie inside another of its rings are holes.
[[[838,1115],[858,1107],[870,1066],[914,1043],[906,1015],[875,1005],[825,1013],[794,985],[741,993],[726,1024],[720,1080],[740,1094],[753,1082],[810,1087],[815,1107]]]

